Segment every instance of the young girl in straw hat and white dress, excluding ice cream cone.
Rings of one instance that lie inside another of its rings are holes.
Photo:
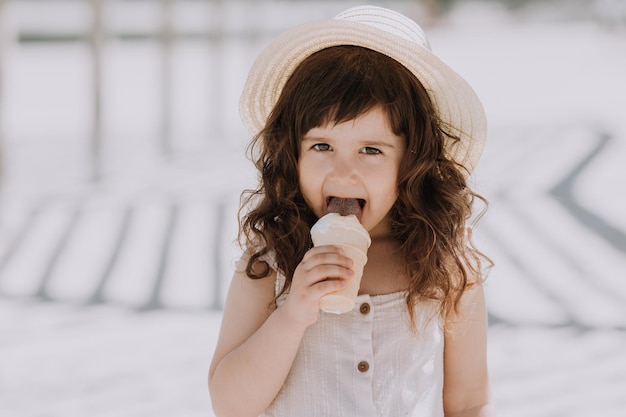
[[[468,176],[486,123],[417,24],[377,7],[279,36],[241,99],[260,185],[209,371],[217,416],[492,416],[481,260]],[[354,309],[320,311],[351,279],[311,226],[335,198],[369,231]],[[355,204],[353,204],[355,206]]]

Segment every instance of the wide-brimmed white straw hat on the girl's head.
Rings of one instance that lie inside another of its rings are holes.
[[[448,145],[448,157],[471,172],[482,153],[487,121],[469,84],[430,50],[417,23],[393,10],[357,6],[331,20],[303,24],[276,37],[252,65],[239,110],[244,125],[258,134],[283,87],[309,55],[338,45],[372,49],[400,62],[428,92],[447,130],[461,138]]]

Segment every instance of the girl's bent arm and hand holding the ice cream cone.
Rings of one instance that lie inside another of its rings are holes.
[[[350,271],[332,247],[307,252],[294,273],[290,294],[274,307],[273,275],[253,280],[246,261],[231,282],[222,327],[209,369],[209,391],[217,416],[258,416],[282,387],[304,332],[317,321],[319,299],[345,286]],[[349,266],[349,265],[348,265]],[[350,272],[351,273],[351,272]]]

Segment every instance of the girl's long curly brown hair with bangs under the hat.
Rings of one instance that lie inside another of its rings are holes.
[[[419,80],[394,59],[358,46],[334,46],[306,58],[250,144],[259,187],[242,195],[239,233],[250,256],[246,274],[269,276],[263,259],[272,254],[286,278],[282,291],[288,290],[312,246],[310,229],[317,221],[299,188],[301,140],[314,127],[352,120],[375,106],[382,107],[406,146],[391,231],[410,277],[408,311],[413,317],[417,302],[428,298],[438,300],[446,314],[468,285],[482,281],[481,261],[489,260],[468,243],[466,223],[475,200],[485,208],[486,201],[470,190],[467,170],[446,156],[459,139],[437,118]]]

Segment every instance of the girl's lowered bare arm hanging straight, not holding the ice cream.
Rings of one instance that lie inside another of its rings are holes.
[[[493,417],[487,372],[487,308],[481,285],[463,294],[446,319],[443,402],[446,417]]]

